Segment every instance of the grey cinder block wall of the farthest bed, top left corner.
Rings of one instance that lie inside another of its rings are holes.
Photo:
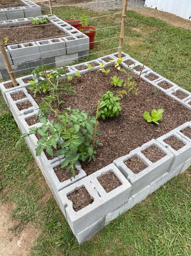
[[[23,19],[27,17],[40,16],[41,7],[29,0],[21,0],[23,7],[0,9],[0,21]]]

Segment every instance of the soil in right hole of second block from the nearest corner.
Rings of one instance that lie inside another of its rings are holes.
[[[147,147],[144,151],[141,151],[146,158],[152,163],[157,162],[159,159],[166,156],[166,154],[156,146]]]

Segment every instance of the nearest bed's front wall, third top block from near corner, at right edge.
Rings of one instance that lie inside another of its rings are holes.
[[[191,155],[191,142],[184,139],[180,134],[177,133],[177,129],[172,130],[171,132],[164,134],[163,136],[157,139],[164,147],[166,147],[172,154],[174,154],[174,159],[171,163],[171,166],[168,172],[173,171],[176,169],[177,166],[181,165],[182,163],[186,162],[190,158]],[[179,150],[174,150],[169,144],[164,142],[165,139],[174,136],[178,140],[182,141],[184,146],[181,147]]]

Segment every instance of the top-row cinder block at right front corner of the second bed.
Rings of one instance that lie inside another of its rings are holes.
[[[85,34],[65,37],[63,40],[66,42],[67,54],[89,50],[89,37]]]

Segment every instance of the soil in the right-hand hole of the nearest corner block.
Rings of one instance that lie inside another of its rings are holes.
[[[97,178],[98,182],[100,182],[101,186],[106,190],[107,193],[112,191],[113,189],[121,186],[121,182],[115,176],[115,174],[111,171],[107,172],[107,174],[103,174],[102,176]]]

